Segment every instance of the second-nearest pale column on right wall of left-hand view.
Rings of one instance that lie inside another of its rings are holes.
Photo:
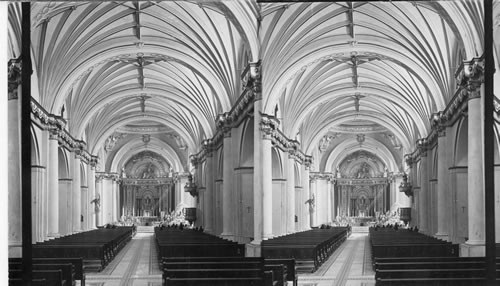
[[[227,239],[234,239],[233,233],[233,177],[231,129],[225,129],[222,155],[222,233]]]

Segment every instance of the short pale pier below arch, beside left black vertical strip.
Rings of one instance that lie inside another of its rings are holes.
[[[44,232],[47,223],[47,206],[46,203],[46,181],[45,167],[31,166],[31,194],[32,194],[32,243],[42,242],[46,238]]]

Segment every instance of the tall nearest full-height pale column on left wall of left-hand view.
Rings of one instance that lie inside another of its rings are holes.
[[[58,135],[49,134],[47,192],[49,208],[49,237],[59,237],[59,142]]]

